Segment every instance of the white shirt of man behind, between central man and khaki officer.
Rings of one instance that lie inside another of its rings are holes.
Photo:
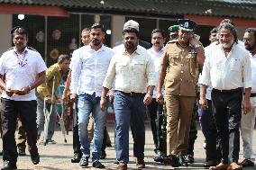
[[[162,49],[160,49],[159,52],[156,52],[155,49],[153,49],[153,47],[151,47],[151,49],[147,49],[148,53],[151,55],[151,58],[153,60],[154,66],[155,66],[155,76],[156,76],[156,80],[158,81],[159,79],[159,73],[160,73],[160,61],[162,58],[162,55],[164,53],[165,47],[162,47]],[[162,94],[163,94],[163,89],[162,88]],[[154,92],[153,92],[153,98],[156,98],[156,94],[157,94],[157,87],[154,88]]]

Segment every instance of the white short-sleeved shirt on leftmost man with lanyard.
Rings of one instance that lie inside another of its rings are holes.
[[[20,63],[20,64],[19,64]],[[22,55],[19,55],[16,48],[6,51],[0,58],[0,75],[5,75],[5,84],[12,90],[21,90],[23,87],[32,85],[36,76],[47,69],[40,53],[25,48]],[[29,94],[11,97],[2,93],[2,97],[14,101],[36,100],[35,89]]]

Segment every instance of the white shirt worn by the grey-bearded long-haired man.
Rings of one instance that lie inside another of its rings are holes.
[[[212,85],[218,90],[251,87],[251,62],[248,52],[236,43],[225,57],[222,44],[210,49],[199,84]]]

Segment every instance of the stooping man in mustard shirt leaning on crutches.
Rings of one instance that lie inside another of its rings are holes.
[[[69,55],[60,55],[58,63],[50,66],[46,70],[45,82],[37,87],[37,139],[40,139],[41,131],[45,121],[44,108],[50,113],[49,130],[46,137],[43,137],[46,143],[56,144],[52,140],[52,136],[55,130],[55,124],[57,119],[56,102],[58,97],[56,91],[59,88],[62,76],[67,72],[69,68],[70,58]],[[53,89],[54,87],[54,89]],[[52,92],[53,91],[53,92]],[[53,96],[51,96],[53,94]],[[52,98],[53,97],[53,98]],[[45,101],[45,103],[44,103]],[[45,104],[45,105],[44,105]],[[51,112],[50,105],[52,104]]]

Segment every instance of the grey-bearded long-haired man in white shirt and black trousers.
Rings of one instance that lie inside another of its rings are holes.
[[[202,76],[199,79],[200,101],[206,110],[206,86],[212,85],[212,101],[217,135],[220,139],[222,161],[210,169],[241,169],[239,158],[239,125],[241,113],[250,112],[251,64],[248,52],[237,43],[237,33],[230,23],[218,28],[220,44],[215,52],[206,58]],[[245,89],[242,101],[242,88]]]

